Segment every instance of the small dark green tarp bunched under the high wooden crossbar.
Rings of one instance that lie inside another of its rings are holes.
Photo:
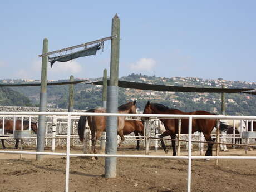
[[[100,49],[100,44],[97,44],[95,46],[92,46],[90,48],[86,48],[84,50],[81,51],[77,51],[75,53],[70,53],[67,55],[62,55],[62,56],[57,56],[57,57],[51,57],[49,58],[49,62],[51,63],[51,67],[53,65],[53,63],[55,63],[55,61],[59,61],[59,62],[66,62],[66,61],[70,61],[73,60],[75,58],[78,57],[85,57],[85,56],[89,56],[89,55],[95,55],[97,50]]]

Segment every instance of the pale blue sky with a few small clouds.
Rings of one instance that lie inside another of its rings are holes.
[[[256,1],[0,1],[0,79],[41,79],[49,51],[111,35],[121,20],[119,77],[223,78],[256,82]],[[101,77],[104,52],[48,65],[48,80]]]

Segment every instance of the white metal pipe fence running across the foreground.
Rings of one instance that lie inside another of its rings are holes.
[[[66,117],[67,119],[67,150],[65,153],[57,152],[29,152],[29,151],[6,151],[1,150],[0,153],[9,154],[41,154],[41,155],[61,155],[66,156],[66,186],[65,191],[68,192],[69,186],[69,173],[70,173],[70,157],[71,156],[97,156],[97,157],[137,157],[137,158],[164,158],[164,159],[188,159],[188,183],[187,191],[191,191],[191,160],[192,159],[256,159],[256,156],[192,156],[192,120],[193,119],[237,119],[237,120],[256,120],[256,116],[215,116],[215,115],[160,115],[160,114],[132,114],[136,117],[154,117],[154,118],[171,118],[171,119],[189,119],[189,141],[188,141],[188,155],[187,156],[166,156],[166,155],[110,155],[110,154],[75,154],[70,153],[70,140],[71,140],[71,118],[73,116],[130,116],[131,114],[108,114],[108,113],[68,113],[68,112],[0,112],[0,115],[58,115]]]

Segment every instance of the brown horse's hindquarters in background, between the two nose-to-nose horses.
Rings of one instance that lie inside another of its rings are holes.
[[[144,124],[142,121],[136,121],[136,120],[125,120],[125,126],[122,130],[124,135],[129,135],[132,132],[134,132],[134,135],[137,139],[137,150],[140,150],[140,140],[139,140],[139,134],[140,136],[144,136]]]

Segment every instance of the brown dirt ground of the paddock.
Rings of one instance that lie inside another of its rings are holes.
[[[2,150],[2,149],[0,149]],[[6,150],[12,150],[11,148]],[[50,150],[45,150],[50,151]],[[63,152],[58,149],[56,152]],[[81,152],[72,149],[71,152]],[[144,154],[131,147],[123,147],[119,154]],[[151,150],[150,155],[164,155]],[[171,153],[169,152],[168,155]],[[186,152],[183,152],[185,155]],[[215,153],[214,153],[215,154]],[[199,155],[194,151],[193,155]],[[230,149],[220,155],[244,156],[243,149]],[[256,156],[256,150],[247,155]],[[53,192],[65,191],[66,158],[45,156],[44,160],[35,161],[35,155],[0,154],[0,192]],[[117,177],[104,178],[105,159],[71,157],[70,191],[186,191],[187,160],[172,159],[117,159]],[[255,192],[255,160],[193,160],[191,191],[207,192]]]

